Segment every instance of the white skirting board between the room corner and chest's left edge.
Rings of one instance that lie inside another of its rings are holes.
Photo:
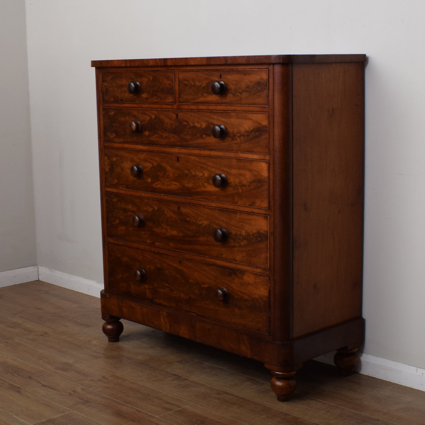
[[[79,276],[58,272],[43,266],[38,266],[38,279],[98,298],[100,297],[100,291],[103,289],[103,283],[96,282],[96,280],[80,278]]]

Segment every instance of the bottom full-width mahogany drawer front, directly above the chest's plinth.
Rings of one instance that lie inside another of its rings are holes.
[[[110,292],[269,332],[266,275],[111,243],[108,270]],[[228,294],[222,301],[216,298],[221,288]]]

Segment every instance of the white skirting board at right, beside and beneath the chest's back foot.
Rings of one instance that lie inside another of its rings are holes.
[[[314,360],[333,365],[335,352],[336,351],[333,351],[323,356],[316,357]],[[393,360],[383,359],[382,357],[372,356],[366,353],[359,354],[359,357],[360,362],[357,366],[357,372],[425,391],[425,369],[416,368],[415,366],[405,365],[404,363],[394,362]]]

